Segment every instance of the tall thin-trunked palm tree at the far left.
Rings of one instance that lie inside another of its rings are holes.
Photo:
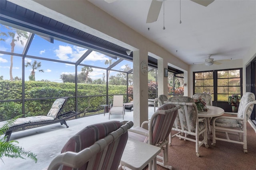
[[[11,45],[11,53],[14,53],[14,47],[15,47],[15,42],[20,41],[21,45],[24,44],[22,39],[28,39],[28,32],[20,30],[20,29],[16,29],[16,28],[12,28],[12,27],[8,27],[5,26],[7,29],[10,30],[10,32],[8,32],[9,37],[12,38],[12,42],[10,43]],[[0,35],[3,35],[6,37],[8,37],[8,35],[5,32],[1,32]],[[6,39],[0,39],[1,41],[6,41]],[[10,65],[10,80],[13,81],[13,77],[12,77],[12,65],[13,65],[13,55],[11,55],[11,65]]]

